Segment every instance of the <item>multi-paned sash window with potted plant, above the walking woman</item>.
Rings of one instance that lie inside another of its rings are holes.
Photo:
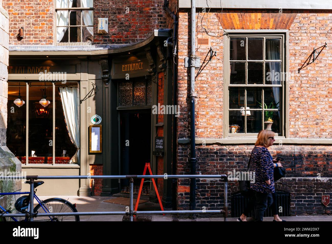
[[[283,134],[283,41],[278,35],[229,38],[228,135]]]

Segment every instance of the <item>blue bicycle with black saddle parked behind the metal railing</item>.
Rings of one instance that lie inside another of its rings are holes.
[[[34,199],[37,200],[38,204],[34,207],[34,213],[52,213],[52,212],[77,212],[76,203],[72,204],[65,199],[62,198],[49,198],[44,201],[40,200],[37,195],[37,187],[44,184],[43,181],[31,181],[24,182],[26,184],[34,184]],[[21,213],[30,212],[30,192],[8,192],[8,193],[0,193],[0,195],[21,195],[21,194],[29,194],[20,197],[15,202],[15,208],[17,211]],[[9,210],[5,209],[3,206],[0,205],[0,222],[7,221],[6,217],[2,215],[5,213],[11,213]],[[7,217],[9,218],[9,217]],[[10,217],[14,221],[19,221],[14,217]],[[21,221],[29,221],[30,217],[25,217],[24,220]],[[34,221],[80,221],[78,215],[70,215],[70,216],[39,216],[34,217]]]

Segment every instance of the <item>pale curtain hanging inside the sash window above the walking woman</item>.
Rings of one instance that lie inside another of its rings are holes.
[[[279,48],[279,46],[278,45],[276,46],[275,42],[267,41],[266,49],[268,51],[269,60],[279,60],[280,59],[280,57],[277,56],[277,55],[279,55],[279,51],[277,50],[277,48]],[[269,76],[269,77],[271,77],[271,84],[280,85],[281,84],[280,78],[282,76],[280,62],[268,62],[268,63],[269,63],[270,72],[271,72],[271,74]],[[277,72],[279,72],[279,75],[277,75]],[[274,101],[277,104],[280,102],[280,87],[272,87],[272,91],[273,91]],[[276,108],[279,109],[279,107],[280,107],[280,103],[277,105]],[[278,111],[278,114],[279,114],[279,118],[280,118],[280,111]]]

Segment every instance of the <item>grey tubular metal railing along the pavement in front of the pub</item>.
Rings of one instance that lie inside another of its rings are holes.
[[[224,181],[224,205],[220,210],[165,210],[165,211],[134,211],[133,190],[134,179],[222,179]],[[34,221],[34,217],[41,216],[72,216],[72,215],[129,215],[130,221],[138,214],[223,214],[224,221],[227,221],[227,175],[94,175],[94,176],[2,176],[3,180],[30,180],[30,212],[26,213],[5,213],[3,217],[28,217]],[[34,182],[35,180],[46,179],[129,179],[129,211],[105,211],[105,212],[62,212],[62,213],[34,213]],[[0,193],[1,195],[1,193]]]

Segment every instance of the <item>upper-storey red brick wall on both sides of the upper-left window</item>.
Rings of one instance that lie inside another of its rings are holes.
[[[54,0],[4,0],[10,19],[10,44],[55,44],[54,5]],[[166,28],[163,5],[164,0],[95,0],[94,43],[134,43],[149,37],[154,29]],[[97,34],[98,18],[108,18],[108,34]],[[17,41],[20,27],[24,27],[24,39]]]

